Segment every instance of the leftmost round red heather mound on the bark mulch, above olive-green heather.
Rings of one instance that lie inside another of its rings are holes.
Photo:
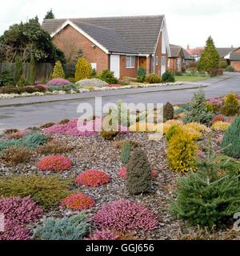
[[[58,172],[70,170],[71,167],[70,159],[62,155],[51,155],[46,158],[42,158],[42,160],[38,162],[38,168],[43,171],[52,170]]]

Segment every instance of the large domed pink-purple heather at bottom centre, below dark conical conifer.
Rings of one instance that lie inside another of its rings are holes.
[[[103,229],[123,232],[154,230],[158,226],[157,218],[151,210],[138,202],[119,200],[102,206],[94,215],[94,223]]]

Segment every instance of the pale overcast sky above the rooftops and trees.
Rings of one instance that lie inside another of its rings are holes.
[[[212,35],[216,46],[240,46],[239,0],[14,0],[2,1],[0,34],[10,25],[52,8],[56,18],[165,14],[170,42],[202,46]]]

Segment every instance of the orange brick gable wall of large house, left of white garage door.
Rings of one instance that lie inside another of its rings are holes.
[[[98,73],[109,68],[108,55],[98,48],[98,46],[93,47],[94,44],[72,26],[66,26],[52,40],[69,60],[72,60],[76,56],[78,50],[82,50],[88,62],[97,63]]]

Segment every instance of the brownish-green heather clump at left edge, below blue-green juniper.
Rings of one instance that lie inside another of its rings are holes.
[[[28,148],[12,146],[2,151],[1,159],[10,166],[17,166],[22,162],[29,162],[32,152]]]

